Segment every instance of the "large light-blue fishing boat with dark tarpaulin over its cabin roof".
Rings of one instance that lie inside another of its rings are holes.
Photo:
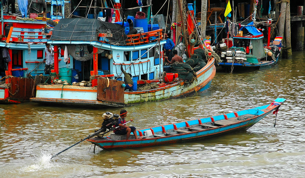
[[[155,24],[148,27],[146,18],[128,16],[127,22],[129,27],[123,26],[122,22],[107,23],[98,19],[61,19],[48,41],[55,48],[54,83],[37,85],[35,96],[30,100],[49,105],[122,107],[186,96],[210,87],[216,72],[214,58],[209,58],[206,65],[194,74],[192,83],[180,79],[180,74],[178,77],[174,77],[174,73],[165,74],[162,47],[166,40],[163,40],[162,29],[154,29]],[[125,35],[127,29],[138,29],[138,33]],[[192,26],[188,33],[194,29]],[[70,69],[56,65],[59,57],[56,48],[59,46],[67,46],[72,56]],[[86,49],[85,56],[80,57],[83,48]],[[194,46],[187,47],[191,53],[194,49]],[[124,88],[121,64],[132,76],[132,91]],[[67,72],[61,73],[62,69]],[[67,84],[58,83],[59,79],[66,80]],[[140,85],[146,84],[149,88],[140,89]]]

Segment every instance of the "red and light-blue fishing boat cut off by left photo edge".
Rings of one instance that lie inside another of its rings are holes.
[[[34,79],[27,74],[43,74],[40,65],[45,56],[47,37],[44,33],[46,21],[18,19],[16,16],[3,15],[0,25],[1,65],[0,103],[28,102],[33,89]],[[7,67],[2,51],[7,51]],[[35,70],[34,70],[35,69]],[[33,72],[34,71],[34,72]]]

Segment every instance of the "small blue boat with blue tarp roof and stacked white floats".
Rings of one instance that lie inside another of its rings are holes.
[[[219,51],[221,68],[228,68],[230,72],[256,70],[269,68],[278,62],[282,37],[276,37],[271,43],[268,40],[269,43],[263,44],[264,35],[253,26],[253,22],[243,26],[239,32],[231,41],[224,43],[229,46],[228,49]],[[270,39],[270,32],[268,35]]]

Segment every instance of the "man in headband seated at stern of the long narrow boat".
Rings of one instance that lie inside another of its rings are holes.
[[[121,109],[118,123],[113,126],[113,127],[117,127],[117,126],[120,126],[120,127],[115,129],[113,131],[113,133],[117,134],[117,135],[126,135],[126,140],[128,140],[128,138],[130,136],[130,133],[132,132],[135,135],[135,139],[138,139],[136,128],[133,127],[133,126],[128,127],[128,126],[125,125],[125,123],[126,123],[125,117],[126,116],[127,116],[127,111],[125,109]],[[130,121],[133,121],[133,120],[130,119]]]

